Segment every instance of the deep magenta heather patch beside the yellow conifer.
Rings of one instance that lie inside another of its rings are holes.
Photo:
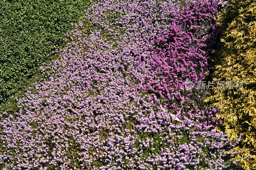
[[[184,106],[192,95],[184,89],[186,81],[200,82],[209,73],[205,49],[208,41],[217,37],[213,14],[217,13],[218,4],[212,3],[186,5],[170,29],[157,37],[155,49],[147,56],[150,69],[144,76],[144,89],[164,98],[169,105],[170,101],[181,100],[180,105]],[[178,92],[181,94],[177,95]],[[172,103],[172,107],[176,104],[177,108],[177,103]]]

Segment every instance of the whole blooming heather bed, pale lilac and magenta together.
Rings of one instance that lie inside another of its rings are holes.
[[[66,47],[56,50],[59,60],[41,67],[44,78],[18,100],[20,111],[0,115],[0,166],[221,169],[223,147],[230,141],[201,119],[212,120],[216,110],[191,104],[186,116],[173,105],[177,122],[166,105],[170,97],[183,101],[178,89],[184,80],[205,76],[207,34],[197,33],[206,28],[204,19],[214,17],[216,3],[181,8],[180,1],[109,0],[92,5],[67,33]]]

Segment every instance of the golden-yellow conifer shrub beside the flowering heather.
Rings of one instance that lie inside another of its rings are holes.
[[[232,149],[240,153],[232,160],[241,159],[237,164],[246,170],[256,169],[256,0],[230,0],[217,23],[222,48],[214,59],[213,81],[243,82],[243,87],[215,88],[211,104],[221,107],[217,116],[223,123],[219,128],[231,140],[243,133],[239,145]]]

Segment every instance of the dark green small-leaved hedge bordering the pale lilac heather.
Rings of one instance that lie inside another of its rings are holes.
[[[0,2],[0,105],[31,78],[41,63],[51,60],[91,4],[90,0],[2,0]]]

